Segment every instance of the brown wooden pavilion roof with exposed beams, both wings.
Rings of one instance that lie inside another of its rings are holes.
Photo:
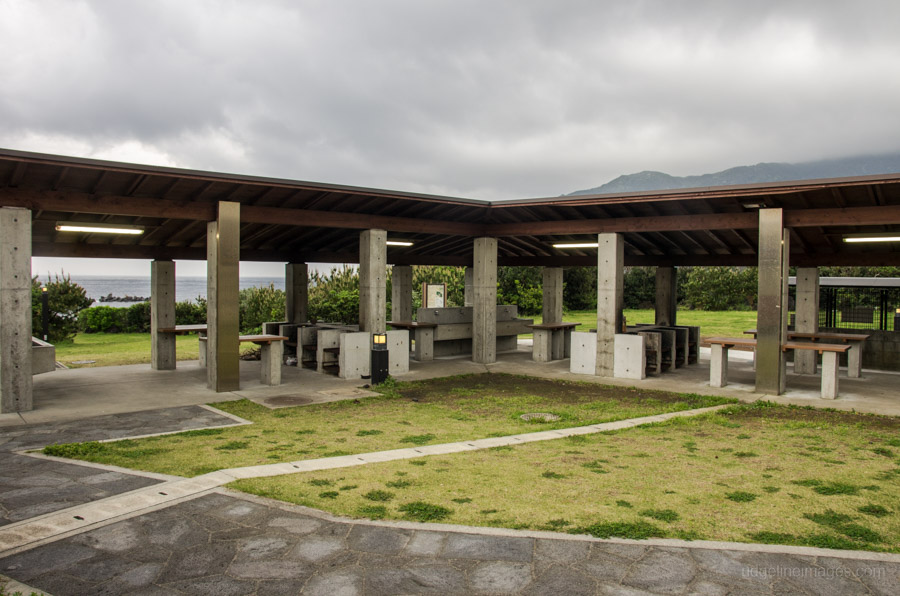
[[[490,202],[0,149],[0,206],[33,212],[34,256],[205,259],[219,201],[241,204],[241,260],[357,262],[359,231],[379,228],[394,264],[465,265],[495,236],[500,264],[596,264],[621,232],[629,265],[755,265],[759,208],[783,208],[795,265],[900,265],[900,174]],[[139,225],[142,236],[57,232],[58,221]]]

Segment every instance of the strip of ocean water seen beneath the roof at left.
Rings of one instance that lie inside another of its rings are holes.
[[[41,281],[47,281],[45,275]],[[134,302],[100,302],[101,296],[135,296],[150,298],[149,277],[123,277],[105,275],[73,275],[72,281],[84,288],[89,298],[94,299],[93,306],[131,306]],[[278,290],[284,289],[283,277],[241,277],[240,289],[264,287],[272,284]],[[206,298],[206,277],[175,277],[175,300],[197,301],[197,297]]]

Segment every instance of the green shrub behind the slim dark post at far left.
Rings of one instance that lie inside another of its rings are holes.
[[[46,286],[50,311],[48,341],[59,343],[70,340],[78,332],[78,313],[94,301],[87,297],[84,288],[65,274],[54,276]],[[41,294],[41,282],[35,276],[31,279],[31,329],[37,337],[42,335]]]

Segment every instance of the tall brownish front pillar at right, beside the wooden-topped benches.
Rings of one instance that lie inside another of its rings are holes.
[[[781,209],[759,212],[759,292],[756,312],[756,391],[784,392],[787,335],[787,267],[790,238]]]

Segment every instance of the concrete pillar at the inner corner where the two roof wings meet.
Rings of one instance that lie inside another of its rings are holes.
[[[476,238],[472,272],[472,362],[497,361],[497,239]]]

